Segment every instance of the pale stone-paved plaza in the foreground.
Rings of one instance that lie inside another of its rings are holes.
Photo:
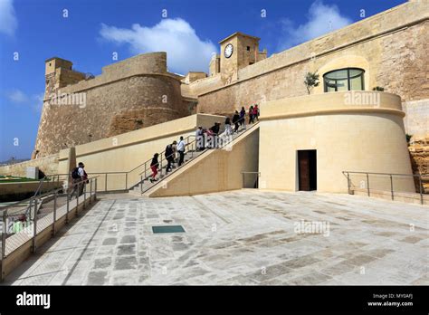
[[[5,283],[429,284],[427,206],[258,190],[99,197]]]

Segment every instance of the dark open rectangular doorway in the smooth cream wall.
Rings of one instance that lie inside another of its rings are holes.
[[[298,182],[300,190],[317,190],[316,150],[298,151]]]

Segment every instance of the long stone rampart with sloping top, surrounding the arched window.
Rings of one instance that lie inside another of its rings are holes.
[[[197,111],[231,115],[234,110],[265,101],[306,95],[307,72],[346,67],[365,70],[365,90],[383,87],[402,99],[406,131],[429,133],[429,2],[410,1],[336,32],[302,43],[270,58],[238,69],[237,80],[224,85],[220,75],[190,83]],[[408,122],[408,123],[407,123]]]

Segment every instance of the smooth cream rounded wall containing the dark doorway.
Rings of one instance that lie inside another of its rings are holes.
[[[262,104],[260,188],[298,190],[298,150],[317,150],[320,192],[347,192],[343,171],[413,174],[399,97],[381,92],[379,105],[370,107],[344,104],[345,93]],[[351,179],[352,185],[364,180],[367,187],[365,175]],[[394,186],[415,192],[412,177],[396,177]],[[371,176],[370,187],[389,191],[389,177]]]

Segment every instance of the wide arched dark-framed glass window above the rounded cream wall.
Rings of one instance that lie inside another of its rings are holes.
[[[365,71],[358,68],[338,69],[323,75],[325,91],[364,90]]]

